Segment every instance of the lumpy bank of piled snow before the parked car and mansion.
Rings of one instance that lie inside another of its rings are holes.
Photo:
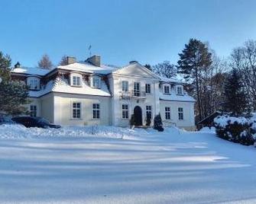
[[[60,129],[26,128],[21,125],[0,126],[0,138],[16,139],[31,137],[89,137],[134,139],[144,129],[125,129],[115,126],[63,126]]]

